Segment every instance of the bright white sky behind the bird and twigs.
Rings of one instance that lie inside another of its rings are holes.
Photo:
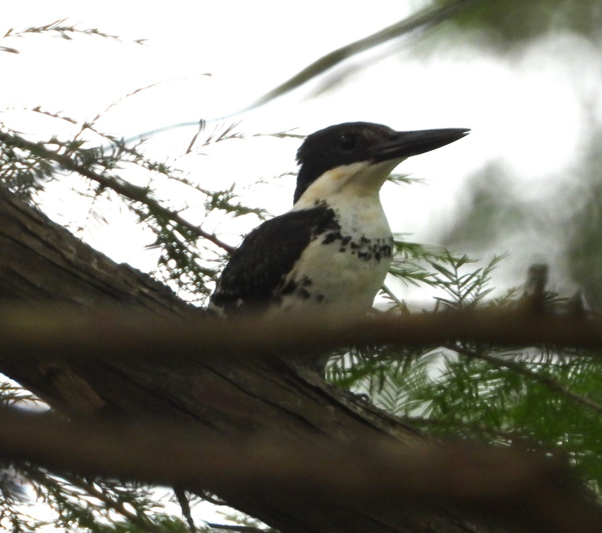
[[[72,42],[44,35],[5,39],[19,55],[0,52],[0,109],[62,111],[78,120],[94,117],[137,88],[167,82],[126,99],[108,111],[99,128],[129,137],[149,129],[200,118],[219,117],[243,108],[308,63],[408,15],[421,2],[372,0],[361,10],[348,1],[28,1],[3,2],[0,34],[10,28],[43,25],[63,17],[81,28],[119,35],[123,43],[99,37]],[[365,54],[370,66],[358,69],[334,89],[312,98],[309,87],[235,120],[249,134],[299,128],[303,134],[352,120],[382,122],[396,129],[468,127],[464,140],[406,161],[398,170],[425,179],[428,186],[385,185],[383,204],[393,230],[435,242],[453,214],[462,209],[467,176],[491,161],[503,161],[520,176],[515,186],[526,200],[548,200],[570,186],[571,168],[589,128],[599,121],[602,63],[585,40],[557,34],[527,51],[495,56],[478,34],[439,37],[431,52],[419,43]],[[139,46],[129,40],[147,39]],[[452,45],[455,43],[455,45]],[[459,45],[463,43],[463,45]],[[358,66],[352,60],[346,67]],[[10,74],[8,74],[10,73]],[[205,76],[211,73],[211,77]],[[0,122],[23,132],[67,135],[66,125],[22,111],[0,112]],[[208,131],[211,131],[209,126]],[[178,158],[194,129],[162,134],[149,143],[152,156]],[[208,150],[199,179],[226,188],[257,177],[295,170],[296,140],[259,138],[229,141]],[[180,159],[176,161],[182,162]],[[132,178],[133,179],[133,178]],[[272,188],[247,191],[249,202],[273,214],[290,207],[293,178]],[[86,206],[73,203],[66,189],[48,211],[57,220],[77,220]],[[196,220],[194,205],[185,212]],[[198,214],[197,214],[198,217]],[[149,237],[128,218],[109,215],[109,224],[91,224],[85,238],[117,261],[143,270],[154,256],[143,251]],[[81,220],[79,220],[81,223]],[[256,221],[244,220],[230,239]],[[141,241],[141,238],[143,239]],[[144,239],[146,238],[146,242]],[[522,238],[521,238],[522,239]],[[525,242],[511,236],[497,252],[511,251],[504,267],[515,282],[540,256],[558,253],[551,239]],[[460,250],[461,251],[461,250]],[[503,269],[502,269],[503,270]]]

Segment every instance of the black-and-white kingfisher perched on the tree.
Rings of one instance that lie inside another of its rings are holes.
[[[347,122],[308,135],[297,151],[293,207],[244,238],[208,308],[240,316],[334,304],[368,313],[394,251],[380,188],[400,162],[469,131]]]

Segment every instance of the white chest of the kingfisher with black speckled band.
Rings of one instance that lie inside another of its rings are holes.
[[[285,308],[333,303],[367,311],[385,280],[393,237],[380,203],[333,208],[334,226],[314,236],[285,280]]]

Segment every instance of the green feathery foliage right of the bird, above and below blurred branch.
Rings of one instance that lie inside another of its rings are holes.
[[[467,256],[429,254],[402,243],[398,249],[432,267],[423,274],[402,271],[402,278],[443,291],[444,296],[435,297],[433,312],[514,306],[524,297],[512,289],[485,301],[492,291],[492,270],[502,257],[476,267]],[[543,297],[545,308],[554,312],[562,312],[568,303],[552,293]],[[409,310],[397,301],[388,312]],[[596,491],[602,486],[599,354],[546,347],[509,351],[477,344],[354,348],[339,354],[329,372],[336,383],[367,394],[378,407],[427,433],[545,451],[568,459]]]

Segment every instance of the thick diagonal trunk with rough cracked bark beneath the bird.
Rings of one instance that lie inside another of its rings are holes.
[[[128,265],[117,265],[5,193],[0,195],[0,295],[39,306],[64,301],[79,306],[82,312],[111,304],[135,306],[163,316],[202,315],[160,283]],[[325,453],[332,453],[334,465],[349,455],[359,461],[361,471],[362,458],[369,463],[373,449],[383,439],[400,457],[412,457],[432,446],[426,437],[367,402],[329,386],[311,371],[275,359],[197,359],[176,350],[161,363],[86,357],[67,361],[60,354],[19,354],[0,356],[0,371],[72,419],[125,421],[125,428],[128,421],[160,417],[178,427],[192,428],[199,442],[213,443],[219,437],[233,446],[258,439],[276,443],[290,452],[293,463],[291,454],[299,446],[297,461],[305,461],[308,472],[315,470],[312,450],[318,466],[324,463]],[[157,422],[156,427],[162,426]],[[166,432],[166,442],[176,438],[177,431],[173,435],[164,427],[162,431]],[[100,434],[96,438],[100,439]],[[215,454],[217,460],[219,451]],[[84,467],[81,462],[75,464]],[[232,464],[239,464],[234,455]],[[353,463],[347,463],[346,469],[352,475]],[[326,479],[328,470],[323,474]],[[385,477],[383,473],[383,482]],[[445,502],[408,498],[403,490],[385,497],[382,491],[374,490],[378,479],[370,479],[368,484],[378,497],[362,494],[361,487],[358,492],[343,486],[337,490],[326,482],[321,486],[319,476],[309,476],[303,482],[270,482],[269,476],[257,476],[255,483],[240,472],[237,483],[229,472],[222,482],[215,475],[207,479],[202,486],[188,480],[184,488],[217,493],[233,507],[283,532],[493,533],[510,531],[509,517],[515,511],[523,526],[529,524],[528,502],[512,498],[489,502],[491,516],[485,519],[483,507],[478,505],[473,513],[465,502],[461,508],[443,507],[454,501],[453,494]],[[403,488],[403,479],[396,482]],[[504,508],[512,505],[516,510]],[[506,525],[496,523],[500,520]],[[557,525],[533,529],[544,530],[598,531],[589,522],[581,529]]]

